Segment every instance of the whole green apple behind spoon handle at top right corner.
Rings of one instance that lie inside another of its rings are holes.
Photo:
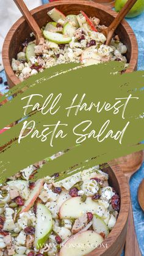
[[[116,12],[120,12],[120,10],[123,8],[123,5],[126,4],[128,0],[116,0],[115,1],[115,10]],[[135,2],[134,6],[132,9],[128,12],[126,15],[127,18],[132,18],[135,16],[140,15],[144,10],[144,0],[137,0]]]

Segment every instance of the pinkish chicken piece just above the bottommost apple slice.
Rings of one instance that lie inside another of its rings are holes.
[[[87,225],[87,223],[87,213],[85,213],[81,217],[76,219],[71,231],[73,232],[73,234],[76,234],[77,232],[81,231]]]

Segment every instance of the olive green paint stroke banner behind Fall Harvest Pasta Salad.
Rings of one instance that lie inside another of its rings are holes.
[[[9,90],[1,101],[14,93],[17,95],[0,108],[0,129],[23,117],[27,119],[0,134],[0,147],[5,145],[0,154],[1,180],[67,148],[70,148],[67,153],[43,165],[35,178],[55,172],[62,172],[60,178],[65,178],[71,175],[74,168],[82,170],[142,150],[144,145],[137,144],[143,141],[144,71],[121,75],[120,70],[123,68],[120,62],[82,68],[78,64],[62,64],[48,68]],[[32,112],[33,106],[38,103],[41,108],[51,93],[53,96],[43,109],[46,114],[41,114],[41,111]],[[61,97],[56,104],[54,99],[60,93]],[[26,97],[34,94],[37,96],[32,97],[29,103],[32,106],[27,108],[25,116],[23,107],[27,104]],[[79,109],[77,114],[76,107],[71,108],[67,116],[67,108],[71,106],[74,97],[76,98],[73,106],[80,104],[83,108]],[[52,103],[54,108],[50,112]],[[24,122],[29,122],[29,126],[34,125],[34,129],[18,143]],[[57,122],[59,126],[56,126]],[[48,130],[48,126],[44,125],[51,126]],[[74,126],[77,128],[73,132]],[[42,137],[44,129],[47,131],[44,133],[45,137]],[[38,137],[32,138],[36,130]],[[60,135],[60,130],[63,139],[56,137],[57,134]],[[91,135],[89,138],[88,134]],[[106,134],[107,138],[104,139]],[[110,135],[115,136],[115,139]],[[76,147],[80,142],[81,145]],[[93,157],[95,158],[92,159]],[[70,167],[76,164],[77,166],[70,170]],[[66,170],[70,172],[64,173]]]

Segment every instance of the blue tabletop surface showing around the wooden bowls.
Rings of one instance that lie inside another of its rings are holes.
[[[48,0],[43,0],[43,4],[48,3]],[[137,42],[139,45],[139,60],[138,60],[138,70],[144,70],[144,12],[135,18],[126,19],[132,29],[135,32],[137,37]],[[2,71],[0,76],[6,81],[5,73]],[[0,85],[0,92],[7,92],[7,86],[4,86],[4,83]],[[135,230],[137,233],[137,239],[139,241],[140,250],[144,256],[144,213],[141,210],[139,203],[137,201],[137,189],[140,182],[144,178],[144,163],[139,171],[131,178],[131,199],[132,199],[132,208],[134,213],[134,223]],[[131,255],[129,255],[131,256]],[[137,255],[135,255],[137,256]]]

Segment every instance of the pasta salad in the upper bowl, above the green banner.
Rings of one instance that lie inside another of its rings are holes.
[[[118,35],[113,37],[110,46],[105,45],[102,30],[106,26],[99,24],[100,20],[95,16],[88,18],[83,11],[79,15],[65,16],[56,8],[48,15],[52,21],[42,27],[44,38],[39,45],[31,33],[31,42],[26,39],[22,51],[12,59],[12,69],[20,81],[45,68],[68,62],[86,66],[118,60],[126,64],[126,45],[120,42]]]

